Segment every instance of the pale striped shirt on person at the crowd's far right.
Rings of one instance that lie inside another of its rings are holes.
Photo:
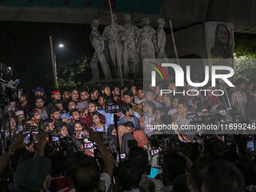
[[[240,93],[238,90],[236,90],[232,94],[231,98],[231,105],[233,105],[236,108],[236,111],[239,114],[239,120],[246,120],[246,103],[247,103],[247,96],[244,91]]]

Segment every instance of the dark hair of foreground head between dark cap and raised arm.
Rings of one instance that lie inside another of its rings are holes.
[[[94,192],[99,187],[100,173],[93,157],[75,154],[78,157],[72,162],[72,181],[77,192]],[[73,155],[74,156],[74,155]],[[76,163],[76,164],[75,164]]]

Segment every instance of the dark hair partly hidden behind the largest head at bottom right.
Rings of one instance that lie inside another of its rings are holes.
[[[210,163],[214,162],[211,157],[203,156],[195,160],[191,166],[191,184],[195,191],[202,191],[203,178],[206,175],[206,171],[209,168]]]

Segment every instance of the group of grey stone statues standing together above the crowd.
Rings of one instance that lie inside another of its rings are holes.
[[[124,26],[117,24],[116,14],[113,14],[113,19],[114,25],[111,22],[110,25],[106,26],[102,35],[98,31],[99,20],[93,20],[91,23],[90,42],[95,50],[90,61],[93,72],[91,81],[99,81],[98,62],[104,72],[105,80],[110,80],[120,78],[120,66],[124,78],[129,75],[134,78],[141,78],[143,59],[167,59],[164,51],[166,45],[166,33],[163,29],[165,20],[157,20],[156,32],[149,25],[150,20],[147,17],[142,20],[141,29],[131,24],[129,14],[124,15]],[[114,31],[117,34],[117,43]]]

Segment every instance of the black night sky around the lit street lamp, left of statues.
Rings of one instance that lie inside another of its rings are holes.
[[[90,25],[9,21],[2,21],[0,25],[0,62],[13,67],[11,79],[19,78],[18,87],[28,91],[44,87],[50,93],[54,89],[50,35],[56,53],[57,72],[65,68],[65,63],[71,59],[78,59],[82,54],[88,58],[93,55]],[[65,47],[60,49],[57,47],[59,43]]]

